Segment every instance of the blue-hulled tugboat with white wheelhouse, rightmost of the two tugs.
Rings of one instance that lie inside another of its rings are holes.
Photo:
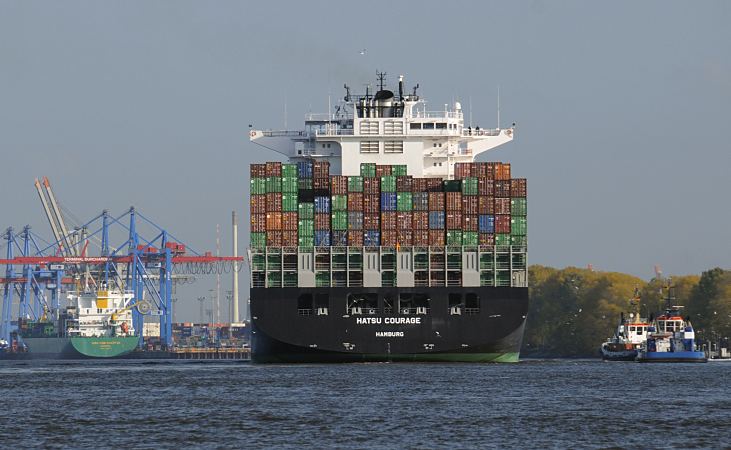
[[[672,287],[669,287],[665,312],[651,321],[637,362],[708,362],[705,352],[695,344],[690,319],[681,316],[683,307],[673,305],[673,300]]]

